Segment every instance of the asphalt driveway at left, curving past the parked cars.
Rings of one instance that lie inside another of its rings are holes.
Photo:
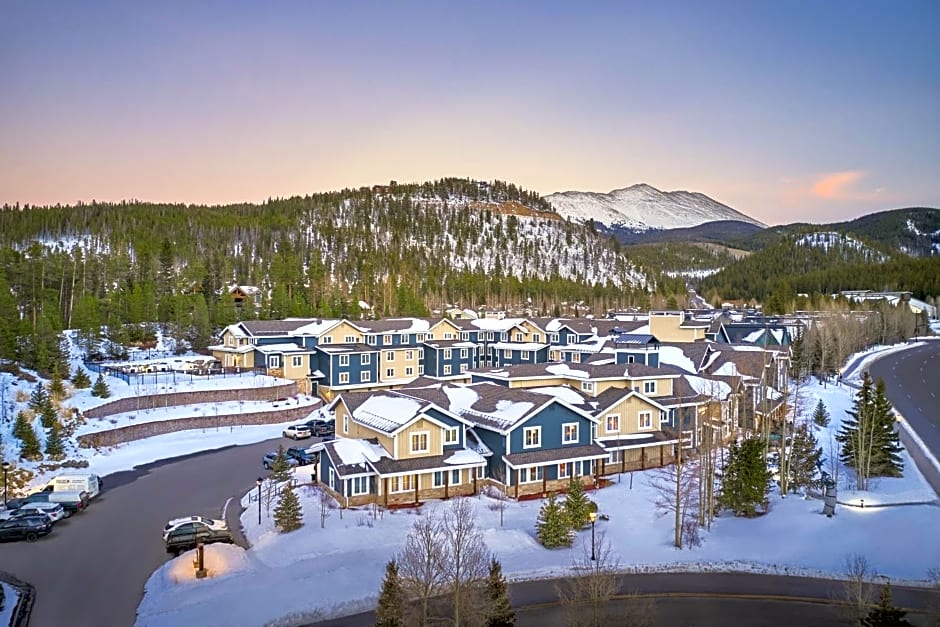
[[[87,512],[36,543],[0,544],[3,570],[36,587],[30,627],[133,625],[147,578],[168,559],[160,538],[166,521],[218,518],[230,496],[254,485],[261,456],[279,443],[293,445],[278,438],[109,475]]]

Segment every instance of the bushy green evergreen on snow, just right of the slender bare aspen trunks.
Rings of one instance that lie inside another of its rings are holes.
[[[763,440],[749,438],[740,444],[732,442],[718,502],[738,516],[756,516],[758,507],[763,507],[767,500],[770,479]]]

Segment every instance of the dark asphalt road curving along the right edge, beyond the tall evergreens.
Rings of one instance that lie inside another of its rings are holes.
[[[868,367],[875,380],[884,379],[885,391],[934,457],[940,460],[940,341],[928,341],[905,351],[885,355]],[[912,446],[904,431],[901,439],[934,492],[940,496],[940,472]]]

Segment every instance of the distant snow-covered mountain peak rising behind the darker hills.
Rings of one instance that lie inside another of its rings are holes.
[[[718,220],[739,220],[766,226],[698,192],[663,192],[640,184],[609,194],[559,192],[546,196],[563,218],[593,219],[607,226],[636,230],[678,229]]]

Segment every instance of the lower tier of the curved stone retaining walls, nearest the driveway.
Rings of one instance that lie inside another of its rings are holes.
[[[268,388],[268,390],[270,389],[271,388]],[[141,440],[155,435],[188,431],[191,429],[215,430],[225,427],[240,427],[243,425],[269,425],[279,422],[290,422],[292,420],[306,418],[310,412],[317,407],[319,407],[319,405],[303,405],[274,411],[225,414],[219,416],[193,416],[191,418],[174,418],[173,420],[142,422],[138,425],[128,425],[126,427],[118,427],[117,429],[99,431],[98,433],[80,435],[78,436],[78,445],[85,448],[115,446],[124,442]]]

